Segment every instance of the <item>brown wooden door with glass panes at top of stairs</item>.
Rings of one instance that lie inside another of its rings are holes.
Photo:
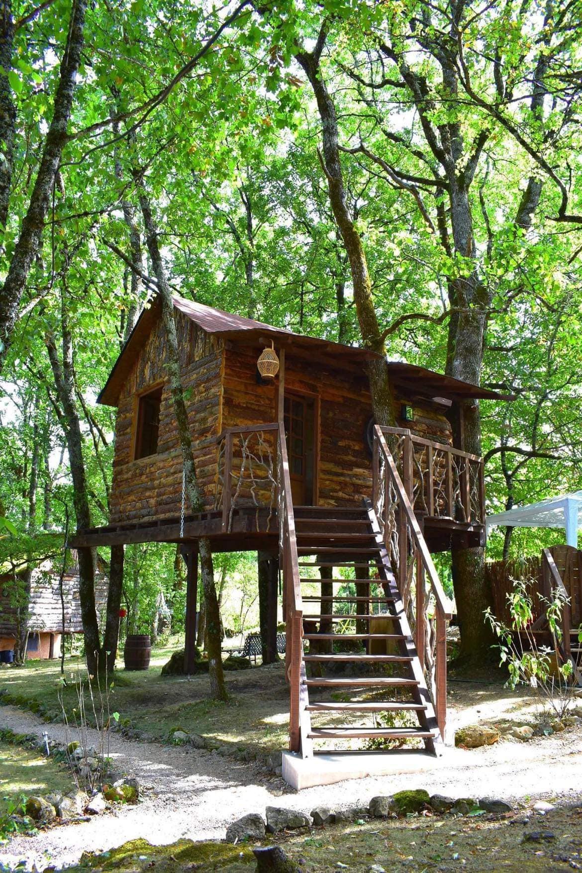
[[[312,400],[301,395],[285,395],[284,429],[293,503],[297,506],[311,505],[314,430]]]

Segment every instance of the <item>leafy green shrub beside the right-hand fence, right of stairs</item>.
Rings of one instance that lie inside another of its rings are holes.
[[[562,718],[572,702],[577,684],[572,660],[565,657],[562,646],[560,622],[568,600],[559,591],[551,598],[539,596],[552,641],[552,646],[543,645],[532,630],[534,605],[531,586],[532,580],[514,581],[514,588],[507,595],[510,627],[496,619],[490,609],[486,610],[485,617],[500,640],[501,664],[509,670],[507,684],[510,688],[515,689],[518,684],[529,685],[536,692],[541,708]],[[582,627],[578,636],[582,642]]]

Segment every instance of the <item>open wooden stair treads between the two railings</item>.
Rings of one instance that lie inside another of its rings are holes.
[[[321,583],[331,595],[302,595],[305,710],[311,720],[305,739],[334,745],[374,739],[387,746],[419,740],[416,745],[435,752],[441,742],[435,709],[372,510],[296,506],[294,513],[302,592],[313,588],[305,574],[310,567],[324,573],[353,568],[351,585],[366,591],[346,595],[346,579],[332,576]],[[338,625],[340,633],[333,630]],[[335,724],[329,724],[333,716]]]

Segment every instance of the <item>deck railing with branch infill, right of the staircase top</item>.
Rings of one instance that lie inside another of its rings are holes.
[[[415,512],[461,524],[485,523],[483,458],[447,443],[382,428]]]

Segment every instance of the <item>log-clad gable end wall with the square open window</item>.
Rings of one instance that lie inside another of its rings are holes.
[[[176,313],[176,329],[196,473],[205,493],[205,508],[210,509],[214,506],[216,485],[215,438],[222,427],[223,340],[202,331],[182,313]],[[121,389],[115,426],[111,524],[180,515],[181,450],[166,383],[166,361],[166,336],[159,320]],[[158,453],[134,460],[139,397],[161,384]]]

